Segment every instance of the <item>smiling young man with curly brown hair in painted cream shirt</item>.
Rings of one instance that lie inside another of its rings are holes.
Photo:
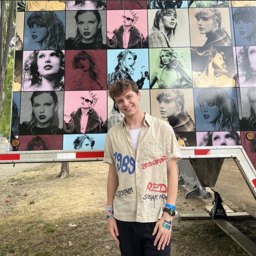
[[[116,81],[108,93],[125,115],[105,143],[109,232],[122,256],[170,256],[181,159],[174,131],[142,112],[135,82]]]

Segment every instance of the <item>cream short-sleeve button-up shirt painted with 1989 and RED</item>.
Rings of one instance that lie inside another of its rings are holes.
[[[166,162],[181,158],[174,131],[163,120],[145,114],[137,152],[125,119],[112,127],[106,136],[103,162],[115,165],[118,173],[114,218],[137,222],[160,219],[167,197]]]

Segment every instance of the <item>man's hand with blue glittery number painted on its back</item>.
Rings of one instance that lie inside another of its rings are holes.
[[[154,241],[154,246],[156,246],[157,242],[158,242],[158,247],[157,249],[160,250],[164,250],[165,245],[168,246],[168,244],[170,243],[170,239],[171,239],[171,233],[172,233],[172,225],[165,223],[164,221],[172,221],[173,216],[171,216],[169,213],[164,212],[163,216],[161,219],[159,219],[156,223],[156,226],[153,230],[152,235],[155,235],[157,233],[156,239]],[[163,227],[163,223],[167,224],[168,226],[171,226],[170,229],[167,229],[165,227]],[[157,232],[158,230],[158,232]]]

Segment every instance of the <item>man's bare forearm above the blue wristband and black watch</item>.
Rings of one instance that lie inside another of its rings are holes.
[[[177,161],[173,159],[167,163],[167,204],[176,204],[178,194],[178,169]]]

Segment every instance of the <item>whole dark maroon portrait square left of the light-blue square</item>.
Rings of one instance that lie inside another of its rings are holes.
[[[66,51],[65,90],[106,90],[106,50]]]

